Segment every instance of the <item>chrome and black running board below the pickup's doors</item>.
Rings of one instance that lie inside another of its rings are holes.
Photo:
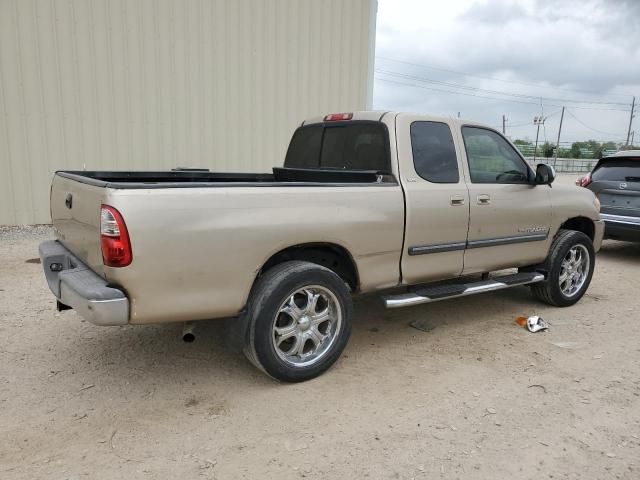
[[[472,283],[457,283],[449,285],[436,285],[432,287],[417,288],[413,292],[382,297],[387,308],[410,307],[421,303],[437,302],[448,298],[466,297],[476,293],[492,292],[503,288],[528,285],[542,282],[544,275],[536,272],[521,272],[513,275],[504,275],[490,280],[482,280]]]

